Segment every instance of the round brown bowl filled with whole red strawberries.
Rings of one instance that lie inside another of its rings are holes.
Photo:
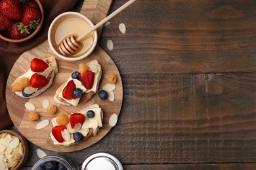
[[[0,0],[0,38],[8,42],[32,39],[43,25],[39,0]]]

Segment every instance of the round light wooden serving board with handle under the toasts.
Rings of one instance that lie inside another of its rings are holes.
[[[96,24],[96,22],[106,17],[111,3],[112,1],[110,0],[85,0],[81,9],[81,13],[90,18]],[[101,29],[102,28],[98,29],[98,33],[100,33]],[[58,74],[55,75],[54,82],[51,87],[41,95],[33,97],[32,99],[24,99],[18,97],[18,95],[16,95],[14,92],[11,92],[10,86],[12,82],[14,82],[18,76],[22,75],[28,69],[30,69],[30,62],[33,58],[45,58],[48,56],[54,56],[54,54],[49,49],[48,41],[45,41],[32,50],[24,52],[24,54],[22,54],[20,58],[17,59],[16,63],[14,63],[14,66],[12,67],[11,73],[7,80],[6,88],[7,108],[9,110],[12,122],[14,123],[14,126],[18,128],[18,131],[20,131],[20,133],[26,137],[26,139],[36,144],[37,146],[41,146],[42,148],[58,152],[72,152],[87,148],[88,146],[91,146],[92,144],[100,141],[100,139],[102,139],[102,137],[104,137],[108,131],[110,131],[112,128],[108,124],[110,116],[114,113],[119,115],[123,101],[123,86],[119,71],[110,56],[108,56],[108,54],[106,54],[102,48],[96,46],[93,53],[88,58],[85,58],[81,61],[63,61],[56,57],[56,61],[58,63]],[[71,75],[72,71],[77,70],[79,63],[87,63],[92,59],[98,60],[98,63],[102,67],[102,78],[100,80],[100,86],[98,90],[101,90],[102,86],[107,83],[108,75],[117,75],[116,90],[114,90],[115,100],[109,101],[106,99],[103,101],[98,97],[98,93],[96,93],[89,101],[87,101],[87,103],[80,103],[77,107],[64,106],[56,103],[54,101],[54,94],[56,89],[61,84],[66,82],[66,80],[68,80],[68,77]],[[56,105],[56,107],[58,107],[56,114],[50,115],[45,109],[43,109],[43,99],[49,99],[50,104]],[[24,107],[26,102],[30,102],[35,105],[35,110],[39,112],[40,115],[40,119],[38,121],[31,122],[28,120],[28,114],[30,110],[26,110]],[[35,126],[40,120],[48,119],[51,122],[51,119],[56,117],[59,112],[66,112],[68,114],[72,112],[79,112],[79,110],[84,109],[85,107],[89,107],[93,104],[100,105],[104,112],[103,127],[100,127],[100,130],[95,137],[89,137],[82,143],[73,144],[71,146],[54,145],[50,137],[51,128],[53,127],[53,124],[51,123],[44,129],[35,129]]]

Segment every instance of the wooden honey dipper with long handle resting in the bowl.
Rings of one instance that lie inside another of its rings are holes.
[[[91,27],[91,29],[89,29],[88,31],[86,31],[85,33],[83,33],[82,35],[80,35],[79,37],[75,37],[74,35],[71,35],[70,37],[66,37],[58,46],[58,51],[63,55],[63,56],[72,56],[72,54],[74,54],[75,52],[77,52],[79,46],[81,45],[79,43],[79,41],[81,41],[82,39],[84,39],[87,35],[89,35],[89,33],[91,33],[92,31],[95,31],[95,29],[97,29],[98,27],[100,27],[100,25],[104,24],[105,22],[107,22],[108,20],[110,20],[111,18],[113,18],[114,16],[116,16],[116,14],[118,14],[119,12],[121,12],[122,10],[124,10],[126,7],[128,7],[129,5],[131,5],[132,3],[134,3],[136,0],[129,0],[127,3],[125,3],[124,5],[122,5],[121,7],[119,7],[119,9],[115,10],[114,12],[112,12],[112,14],[110,14],[109,16],[107,16],[106,18],[104,18],[103,20],[101,20],[100,22],[98,22],[98,24],[96,24],[94,27]]]

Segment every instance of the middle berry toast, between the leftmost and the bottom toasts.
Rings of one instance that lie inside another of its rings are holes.
[[[56,103],[74,105],[88,101],[98,90],[102,70],[97,60],[80,63],[78,71],[60,86],[54,95]]]

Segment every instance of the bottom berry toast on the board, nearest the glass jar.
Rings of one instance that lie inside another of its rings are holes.
[[[80,143],[90,136],[96,136],[102,127],[102,120],[102,109],[96,104],[70,115],[61,112],[51,120],[53,144],[68,146]]]

